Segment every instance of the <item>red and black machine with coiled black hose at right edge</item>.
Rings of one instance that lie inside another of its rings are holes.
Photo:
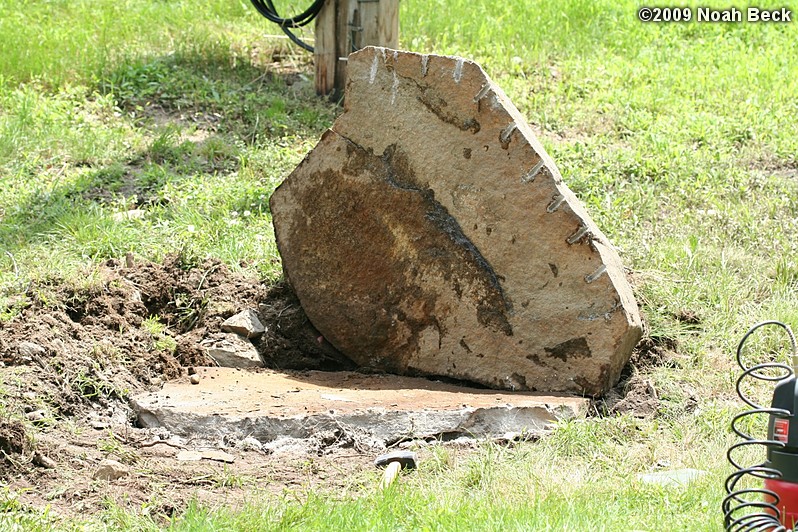
[[[746,342],[762,327],[783,328],[792,347],[790,365],[765,362],[747,365],[743,356]],[[737,347],[737,363],[743,373],[737,379],[737,394],[751,407],[732,420],[732,430],[742,441],[732,445],[727,453],[729,463],[736,471],[726,478],[726,493],[723,500],[724,526],[728,531],[773,531],[793,530],[798,523],[798,346],[795,335],[786,324],[765,321],[754,325],[740,340]],[[751,400],[741,388],[746,379],[758,379],[776,384],[769,408]],[[742,422],[748,416],[768,416],[767,439],[756,439],[741,428],[753,423]],[[759,464],[744,466],[737,460],[737,451],[747,446],[764,446],[767,459]],[[753,477],[762,487],[747,487],[742,482]]]

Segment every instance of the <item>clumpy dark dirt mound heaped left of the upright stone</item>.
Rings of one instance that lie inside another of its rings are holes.
[[[59,388],[61,415],[215,365],[199,341],[246,308],[261,309],[267,333],[256,347],[268,366],[351,367],[283,284],[266,286],[214,260],[190,267],[179,255],[163,264],[110,260],[96,273],[100,281],[87,287],[32,285],[21,312],[0,322],[3,363],[32,366]]]

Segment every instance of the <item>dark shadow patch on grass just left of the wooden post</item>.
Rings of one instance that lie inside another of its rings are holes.
[[[216,48],[122,64],[97,89],[145,121],[193,122],[253,144],[286,134],[318,136],[335,112],[315,96],[309,74],[262,68]]]

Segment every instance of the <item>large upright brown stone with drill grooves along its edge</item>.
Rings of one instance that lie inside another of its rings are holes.
[[[271,198],[286,277],[360,365],[599,395],[641,322],[530,127],[455,57],[365,48],[344,113]]]

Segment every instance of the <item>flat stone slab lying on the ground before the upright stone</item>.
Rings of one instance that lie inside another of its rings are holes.
[[[278,373],[197,368],[200,384],[167,382],[131,397],[142,427],[184,438],[308,438],[352,427],[377,441],[404,438],[540,435],[558,420],[583,416],[588,400],[497,392],[396,375]]]

